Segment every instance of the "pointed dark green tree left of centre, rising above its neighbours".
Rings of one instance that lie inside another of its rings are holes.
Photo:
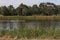
[[[16,10],[17,10],[18,15],[26,15],[28,11],[28,6],[21,3]]]

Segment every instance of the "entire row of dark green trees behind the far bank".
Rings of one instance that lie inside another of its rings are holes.
[[[0,7],[0,15],[3,16],[32,16],[32,15],[59,15],[60,14],[60,5],[54,3],[40,3],[39,6],[36,4],[33,6],[27,6],[21,3],[17,8],[14,8],[13,5],[8,7]]]

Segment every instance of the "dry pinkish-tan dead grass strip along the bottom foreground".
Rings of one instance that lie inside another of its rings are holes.
[[[11,38],[9,35],[5,35],[3,37],[0,37],[0,40],[60,40],[60,39],[53,39],[53,38],[31,38],[31,39],[27,39],[27,38],[20,38],[17,39],[17,36],[14,38]]]

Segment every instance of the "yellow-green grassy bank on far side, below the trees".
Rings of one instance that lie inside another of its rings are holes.
[[[60,20],[60,16],[0,16],[0,20]]]

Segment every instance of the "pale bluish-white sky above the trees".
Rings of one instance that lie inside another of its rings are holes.
[[[33,4],[39,5],[42,2],[51,2],[60,5],[60,0],[0,0],[0,6],[13,5],[14,7],[18,7],[21,3],[32,6]]]

